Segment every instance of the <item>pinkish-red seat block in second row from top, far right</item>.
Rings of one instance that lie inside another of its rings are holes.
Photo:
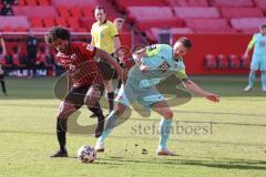
[[[264,18],[259,8],[221,8],[223,18]]]

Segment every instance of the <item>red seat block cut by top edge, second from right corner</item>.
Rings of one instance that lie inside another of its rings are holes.
[[[213,0],[214,7],[254,7],[253,0]]]

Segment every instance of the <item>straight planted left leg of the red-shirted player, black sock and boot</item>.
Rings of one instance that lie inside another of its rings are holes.
[[[57,116],[57,136],[60,149],[51,157],[68,157],[66,150],[66,129],[68,117],[76,111],[76,107],[68,101],[62,101]]]

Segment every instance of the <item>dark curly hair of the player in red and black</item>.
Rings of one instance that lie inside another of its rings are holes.
[[[48,33],[44,35],[44,41],[47,44],[51,44],[52,41],[57,39],[61,40],[70,40],[70,31],[68,29],[64,29],[62,27],[53,27],[51,28]]]

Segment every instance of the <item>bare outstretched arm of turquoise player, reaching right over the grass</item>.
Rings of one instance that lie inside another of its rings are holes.
[[[205,90],[203,90],[202,87],[200,87],[197,84],[195,84],[193,81],[187,80],[186,82],[184,82],[184,86],[192,93],[197,94],[200,96],[206,97],[207,100],[212,101],[212,102],[219,102],[219,96],[207,92]]]

